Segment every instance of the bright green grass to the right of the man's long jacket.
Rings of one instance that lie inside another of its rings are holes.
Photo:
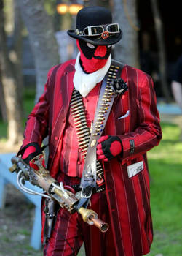
[[[163,139],[148,153],[154,242],[150,255],[182,255],[182,143],[180,129],[162,124]]]

